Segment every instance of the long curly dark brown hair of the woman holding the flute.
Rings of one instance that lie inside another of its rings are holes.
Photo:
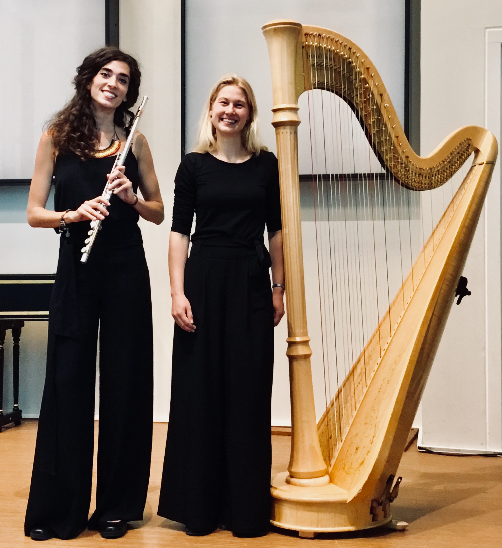
[[[90,158],[99,147],[99,132],[94,117],[89,84],[103,66],[111,61],[122,61],[129,66],[130,79],[126,101],[117,107],[113,122],[126,133],[134,118],[129,109],[140,92],[141,72],[136,59],[122,50],[107,46],[86,56],[73,79],[76,93],[72,100],[49,122],[48,133],[58,153],[74,152],[82,159]]]

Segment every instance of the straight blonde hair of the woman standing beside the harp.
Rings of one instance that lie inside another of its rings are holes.
[[[247,152],[259,154],[262,150],[268,150],[263,144],[258,134],[258,108],[256,99],[251,86],[244,78],[240,78],[235,74],[227,74],[220,78],[215,87],[212,88],[204,108],[203,114],[200,117],[199,132],[197,134],[197,142],[193,148],[193,152],[211,152],[216,149],[216,129],[212,125],[211,112],[212,105],[215,102],[218,93],[225,85],[236,85],[246,97],[247,106],[249,107],[249,120],[240,132],[244,148]]]

